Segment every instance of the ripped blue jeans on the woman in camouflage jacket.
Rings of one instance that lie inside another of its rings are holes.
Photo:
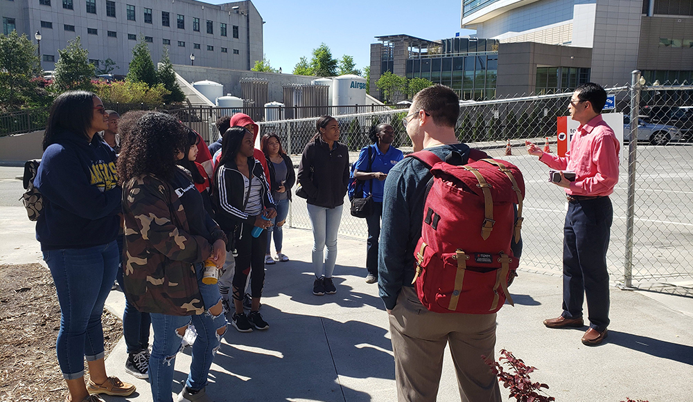
[[[221,335],[218,329],[226,327],[224,313],[212,316],[209,310],[198,316],[168,316],[151,313],[154,345],[149,359],[149,382],[155,402],[171,402],[175,355],[182,347],[183,336],[178,329],[194,325],[198,338],[193,343],[193,361],[185,382],[191,390],[202,390],[207,385],[207,374],[214,354],[219,349]]]

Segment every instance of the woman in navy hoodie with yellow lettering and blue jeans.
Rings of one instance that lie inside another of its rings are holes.
[[[135,390],[107,376],[103,361],[101,313],[118,271],[121,212],[116,154],[94,135],[107,124],[94,93],[69,91],[55,98],[34,181],[44,199],[36,238],[60,302],[56,350],[68,402],[103,401],[96,394],[128,396]]]

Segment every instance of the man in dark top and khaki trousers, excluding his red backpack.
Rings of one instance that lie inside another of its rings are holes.
[[[434,85],[414,96],[403,124],[414,144],[441,160],[457,154],[466,163],[470,148],[457,141],[459,99]],[[378,289],[392,333],[398,401],[435,401],[446,344],[457,372],[462,401],[501,401],[498,379],[482,360],[493,359],[495,313],[435,313],[421,304],[412,285],[414,248],[421,237],[430,167],[404,158],[390,170],[383,194],[383,228],[378,255]],[[461,228],[461,230],[465,230]]]

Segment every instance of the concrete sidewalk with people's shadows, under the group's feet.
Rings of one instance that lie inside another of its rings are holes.
[[[19,207],[0,208],[0,264],[37,262],[33,223]],[[267,331],[241,334],[229,326],[209,374],[215,401],[396,401],[387,315],[376,285],[363,280],[365,241],[342,237],[335,269],[337,294],[312,294],[309,230],[285,229],[290,262],[267,266],[263,317]],[[537,367],[557,401],[691,401],[693,300],[611,290],[611,326],[603,345],[585,347],[583,329],[547,329],[542,320],[561,311],[561,277],[521,266],[511,286],[515,307],[498,313],[497,351],[508,349]],[[123,311],[120,291],[108,308]],[[106,361],[110,375],[135,383],[132,396],[107,401],[151,401],[149,384],[126,374],[125,344]],[[496,354],[498,358],[498,353]],[[178,355],[174,392],[182,389],[189,349]],[[507,399],[507,390],[501,387]],[[452,360],[444,358],[439,401],[459,401]]]

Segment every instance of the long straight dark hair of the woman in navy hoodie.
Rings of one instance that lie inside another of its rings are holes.
[[[44,151],[55,142],[59,131],[71,131],[89,139],[87,131],[94,119],[94,96],[88,91],[67,91],[53,100],[43,138]]]

